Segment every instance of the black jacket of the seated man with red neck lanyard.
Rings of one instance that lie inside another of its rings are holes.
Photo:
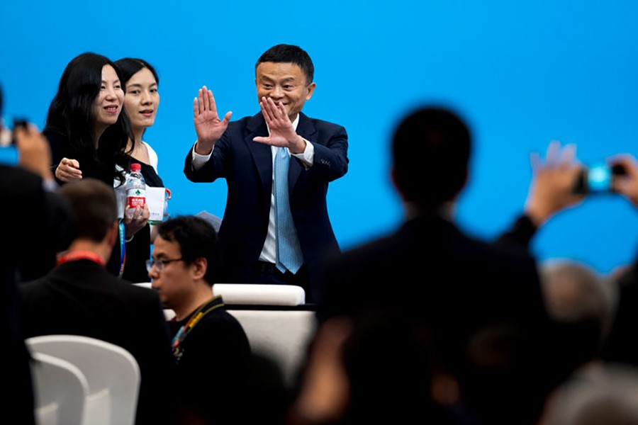
[[[169,395],[175,365],[156,293],[85,259],[63,263],[20,290],[26,337],[84,335],[125,348],[140,366],[136,423],[172,423]]]

